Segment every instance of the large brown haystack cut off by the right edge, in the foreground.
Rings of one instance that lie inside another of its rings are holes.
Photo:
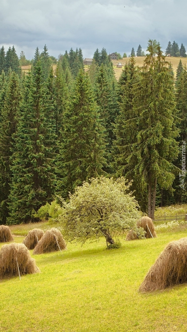
[[[139,290],[164,290],[187,283],[187,238],[170,242],[151,266]]]

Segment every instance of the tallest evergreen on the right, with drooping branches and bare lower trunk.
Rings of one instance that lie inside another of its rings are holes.
[[[123,125],[124,143],[120,149],[124,155],[118,157],[126,177],[134,180],[139,193],[147,195],[150,217],[154,217],[156,184],[172,190],[175,169],[172,161],[178,155],[175,138],[179,132],[172,76],[159,43],[156,59],[153,46],[149,40],[141,79],[133,86],[133,115]]]

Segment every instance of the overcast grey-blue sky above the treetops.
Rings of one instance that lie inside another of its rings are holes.
[[[186,13],[186,0],[1,0],[0,47],[14,45],[27,59],[45,44],[55,57],[71,47],[83,57],[97,47],[129,55],[139,44],[146,51],[148,39],[187,50]]]

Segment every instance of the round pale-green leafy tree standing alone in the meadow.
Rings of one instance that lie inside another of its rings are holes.
[[[64,208],[59,216],[63,235],[69,241],[76,239],[82,243],[104,236],[108,246],[115,243],[113,236],[119,232],[137,228],[140,212],[129,187],[123,177],[117,180],[93,178],[90,183],[77,187],[75,193],[69,195],[69,203],[63,201]]]

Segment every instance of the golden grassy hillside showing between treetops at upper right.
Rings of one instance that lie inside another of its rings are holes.
[[[115,75],[116,75],[116,78],[119,79],[120,75],[121,75],[121,72],[123,70],[123,67],[122,68],[117,68],[116,65],[118,64],[118,62],[121,62],[121,64],[124,66],[128,61],[129,61],[130,58],[123,58],[121,60],[112,60],[113,64],[114,64],[114,71],[115,71]],[[143,61],[144,61],[145,57],[144,56],[135,56],[135,60],[136,60],[136,64],[138,66],[142,66],[143,65]],[[166,61],[168,62],[171,62],[172,66],[173,66],[173,70],[174,70],[174,73],[176,73],[176,69],[177,69],[177,66],[179,64],[179,61],[182,61],[182,64],[187,64],[187,57],[186,58],[181,58],[181,57],[166,57]]]

